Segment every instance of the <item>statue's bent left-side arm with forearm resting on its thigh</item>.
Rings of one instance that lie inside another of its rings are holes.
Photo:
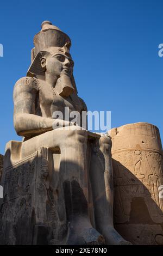
[[[32,80],[33,78],[29,78]],[[35,114],[37,86],[18,81],[14,87],[14,127],[17,135],[33,137],[53,130],[54,119]],[[69,126],[70,122],[58,120],[58,127]]]

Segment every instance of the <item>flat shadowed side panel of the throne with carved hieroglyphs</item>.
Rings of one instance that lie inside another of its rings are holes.
[[[32,194],[36,154],[4,169],[4,200],[0,210],[1,244],[32,243]],[[10,236],[8,232],[10,230]],[[24,235],[24,230],[27,234]]]

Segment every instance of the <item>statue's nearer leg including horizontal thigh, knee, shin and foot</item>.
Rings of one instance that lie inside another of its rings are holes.
[[[46,147],[60,149],[59,167],[59,206],[60,211],[66,210],[67,237],[63,243],[67,245],[93,245],[104,243],[104,237],[92,227],[88,214],[87,184],[87,131],[60,129],[43,133],[29,141],[23,142],[22,157],[32,154],[36,148]]]

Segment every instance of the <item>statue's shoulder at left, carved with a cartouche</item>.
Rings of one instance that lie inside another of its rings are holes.
[[[15,83],[14,89],[16,89],[18,87],[22,87],[22,86],[24,87],[23,89],[34,88],[34,89],[38,90],[39,80],[37,78],[29,77],[29,76],[21,77]]]

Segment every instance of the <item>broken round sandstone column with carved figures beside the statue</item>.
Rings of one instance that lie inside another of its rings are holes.
[[[163,245],[162,146],[159,130],[148,123],[111,130],[114,169],[114,222],[135,245]]]

